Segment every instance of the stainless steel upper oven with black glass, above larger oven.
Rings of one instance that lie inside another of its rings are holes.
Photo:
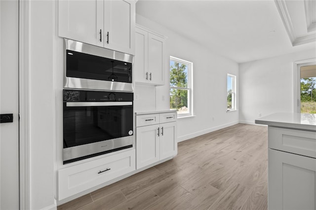
[[[133,91],[133,56],[65,39],[64,87]]]

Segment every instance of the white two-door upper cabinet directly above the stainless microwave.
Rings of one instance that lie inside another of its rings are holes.
[[[58,34],[135,54],[134,0],[59,0]]]

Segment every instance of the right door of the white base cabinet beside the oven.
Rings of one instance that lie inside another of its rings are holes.
[[[160,160],[177,154],[177,123],[160,124]]]

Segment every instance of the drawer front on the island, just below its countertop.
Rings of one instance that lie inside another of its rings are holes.
[[[316,132],[269,127],[269,148],[316,158]]]

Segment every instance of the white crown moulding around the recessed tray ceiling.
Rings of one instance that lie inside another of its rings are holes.
[[[275,3],[276,3],[276,8],[281,16],[286,33],[289,36],[290,41],[292,43],[292,46],[306,44],[306,43],[310,43],[310,42],[313,42],[316,40],[315,34],[296,37],[295,30],[294,30],[294,27],[292,24],[291,17],[289,15],[288,10],[287,10],[285,0],[275,0]],[[305,4],[305,11],[306,11],[306,13],[309,13],[309,14],[306,14],[306,16],[309,19],[309,21],[311,21],[312,20],[312,14],[311,14],[311,10],[310,10],[311,3],[308,0],[305,0],[305,3],[306,3]],[[308,6],[308,8],[306,8],[306,6]],[[311,22],[310,26],[312,28],[314,27],[312,22]]]

